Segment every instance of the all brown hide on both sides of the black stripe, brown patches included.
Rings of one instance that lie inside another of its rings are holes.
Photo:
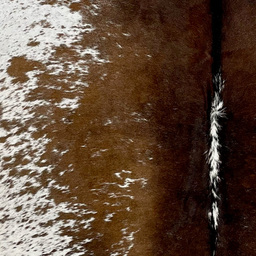
[[[64,2],[95,28],[70,47],[61,44],[54,48],[48,61],[64,63],[64,72],[54,75],[46,68],[49,63],[26,56],[13,57],[7,68],[8,75],[14,77],[12,84],[20,83],[20,87],[29,80],[26,72],[41,70],[37,86],[26,100],[43,99],[52,104],[33,110],[34,119],[17,133],[33,124],[34,139],[49,139],[37,166],[54,168],[37,177],[38,187],[27,182],[15,196],[35,195],[54,180],[59,187],[51,187],[49,200],[57,206],[76,204],[76,210],[86,211],[83,217],[79,211],[60,211],[57,219],[40,223],[42,229],[56,222],[79,223],[75,228],[61,226],[61,236],[71,237],[68,248],[72,248],[63,255],[80,251],[95,256],[211,255],[206,161],[214,94],[210,1]],[[256,255],[254,18],[254,1],[223,1],[226,118],[220,139],[222,203],[217,256]],[[50,26],[44,20],[41,25]],[[38,44],[33,39],[29,46]],[[79,47],[97,49],[100,54],[96,60],[84,50],[84,91],[74,93],[63,81],[80,79],[80,69],[71,75],[66,72],[68,61],[80,60]],[[57,108],[63,98],[76,96],[77,109]],[[12,125],[15,121],[1,124],[6,129]],[[1,138],[1,142],[7,139]],[[22,154],[16,154],[15,161],[4,159],[4,170],[13,167],[8,174],[10,187],[11,177],[35,175],[15,169],[28,161]],[[39,210],[45,214],[51,207]],[[29,219],[21,222],[29,229]],[[15,239],[15,248],[24,242]],[[53,255],[57,249],[43,255]],[[28,255],[34,251],[28,249]]]

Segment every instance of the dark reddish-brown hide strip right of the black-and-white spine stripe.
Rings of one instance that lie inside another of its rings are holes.
[[[223,223],[217,255],[256,254],[255,1],[224,1]]]

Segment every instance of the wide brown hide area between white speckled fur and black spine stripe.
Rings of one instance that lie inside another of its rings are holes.
[[[69,160],[75,170],[67,184],[80,202],[91,200],[100,214],[91,237],[102,236],[86,246],[94,255],[122,248],[117,243],[125,223],[136,231],[129,255],[210,255],[204,154],[211,94],[209,3],[107,1],[101,8],[92,44],[97,40],[110,63],[91,67],[92,86],[70,117],[74,124],[61,132],[72,133],[74,141]],[[103,73],[104,80],[98,79]],[[112,124],[104,127],[106,120]],[[86,139],[87,148],[81,148]],[[98,148],[108,151],[90,158]],[[144,188],[132,189],[134,200],[122,199],[121,207],[111,208],[103,205],[109,200],[105,193],[93,201],[89,189],[113,182],[122,169],[147,179]],[[104,222],[113,208],[112,222]],[[79,239],[83,236],[88,234]]]

